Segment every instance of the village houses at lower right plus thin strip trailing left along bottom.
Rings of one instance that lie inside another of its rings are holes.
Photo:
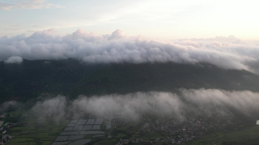
[[[118,145],[127,143],[143,143],[143,142],[153,142],[159,144],[159,142],[169,142],[173,144],[181,144],[182,142],[190,141],[193,139],[200,139],[204,134],[213,133],[216,131],[224,130],[227,124],[232,124],[231,121],[227,120],[224,123],[208,121],[207,119],[195,120],[192,117],[188,119],[172,119],[171,121],[155,121],[145,123],[141,131],[163,131],[168,134],[164,138],[156,138],[155,140],[150,139],[120,139]]]

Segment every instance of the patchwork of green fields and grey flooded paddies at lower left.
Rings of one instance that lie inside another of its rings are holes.
[[[42,117],[28,128],[17,126],[8,131],[12,136],[22,132],[7,145],[85,145],[91,138],[104,136],[104,131],[101,131],[103,120],[103,118],[64,119],[56,123],[54,118]]]

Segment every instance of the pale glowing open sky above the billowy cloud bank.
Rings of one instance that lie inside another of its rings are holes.
[[[116,29],[162,39],[259,38],[255,0],[0,0],[0,36],[77,29],[97,35]]]

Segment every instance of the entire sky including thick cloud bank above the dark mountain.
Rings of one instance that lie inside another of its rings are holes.
[[[0,0],[0,61],[211,63],[259,73],[253,0]]]

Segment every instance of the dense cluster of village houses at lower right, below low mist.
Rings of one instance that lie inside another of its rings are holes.
[[[207,121],[205,119],[195,120],[194,118],[189,117],[189,119],[185,120],[173,119],[168,122],[156,121],[148,130],[167,132],[170,137],[165,137],[160,139],[160,141],[180,144],[181,142],[200,139],[203,134],[223,130],[227,124],[231,124],[231,121],[221,124],[218,122]]]

